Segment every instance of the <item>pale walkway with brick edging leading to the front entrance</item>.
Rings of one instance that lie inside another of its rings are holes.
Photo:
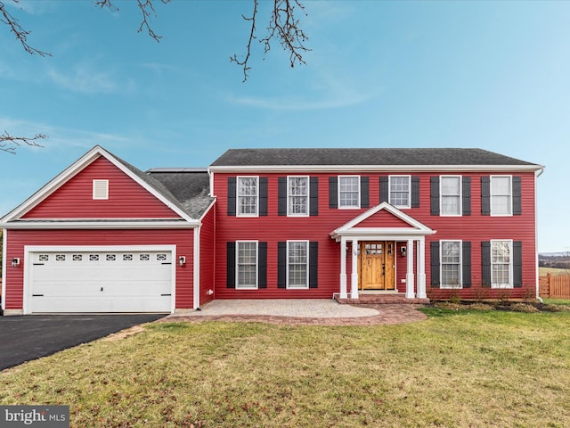
[[[328,299],[213,300],[201,310],[179,311],[162,322],[249,321],[279,325],[382,325],[426,319],[418,305],[341,305]]]

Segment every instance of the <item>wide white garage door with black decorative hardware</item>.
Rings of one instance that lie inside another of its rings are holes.
[[[28,312],[170,312],[172,251],[34,251]]]

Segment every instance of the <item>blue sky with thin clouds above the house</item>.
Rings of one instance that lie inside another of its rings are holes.
[[[140,169],[206,167],[228,148],[478,147],[546,166],[539,251],[570,251],[570,2],[305,0],[305,66],[256,46],[251,0],[157,2],[157,43],[133,1],[3,0],[0,132],[49,135],[0,152],[0,213],[101,144]],[[258,35],[265,35],[267,0]]]

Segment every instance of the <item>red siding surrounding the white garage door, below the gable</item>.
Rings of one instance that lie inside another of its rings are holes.
[[[193,230],[9,230],[4,239],[6,259],[21,260],[18,268],[6,268],[6,309],[22,309],[24,245],[176,245],[173,256],[186,256],[186,265],[176,263],[175,308],[193,307]]]

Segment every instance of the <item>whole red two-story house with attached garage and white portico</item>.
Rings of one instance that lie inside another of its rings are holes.
[[[144,173],[95,146],[0,220],[2,309],[534,297],[542,170],[478,149],[238,149]]]

